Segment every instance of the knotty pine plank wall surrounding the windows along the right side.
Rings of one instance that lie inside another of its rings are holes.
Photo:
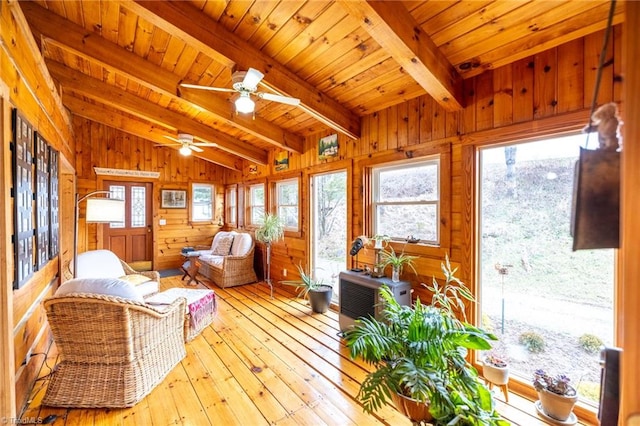
[[[450,253],[460,265],[460,277],[473,287],[475,256],[474,175],[475,147],[531,140],[553,134],[579,132],[587,124],[591,107],[598,56],[604,33],[599,32],[524,58],[513,64],[465,80],[466,108],[457,113],[445,112],[431,97],[420,96],[408,102],[362,118],[362,138],[350,140],[338,135],[339,155],[330,160],[317,156],[318,139],[332,132],[322,132],[305,141],[305,151],[289,156],[289,170],[276,172],[273,166],[258,166],[249,173],[248,165],[240,172],[227,172],[228,184],[261,179],[272,182],[287,174],[302,173],[303,218],[308,217],[308,178],[311,174],[346,167],[352,179],[350,192],[353,211],[349,215],[348,238],[371,234],[367,218],[368,199],[366,168],[404,158],[450,152],[443,173],[443,200],[450,203],[449,218],[443,228],[439,249],[411,247],[407,252],[420,255],[418,277],[407,275],[417,284],[440,276],[440,260]],[[598,103],[621,101],[621,26],[615,27],[612,44],[598,93]],[[272,163],[272,161],[270,161]],[[446,161],[445,161],[446,163]],[[346,164],[346,166],[345,166]],[[300,237],[287,237],[273,247],[272,279],[284,279],[282,269],[307,262],[308,221],[303,221]],[[402,246],[395,247],[402,249]],[[361,252],[362,253],[362,252]],[[360,256],[364,263],[371,256]],[[295,268],[293,268],[295,271]],[[422,294],[423,298],[428,297]]]

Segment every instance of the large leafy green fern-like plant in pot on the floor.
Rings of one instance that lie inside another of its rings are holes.
[[[445,267],[453,276],[448,258]],[[469,294],[449,291],[454,282],[436,288],[439,300]],[[448,308],[459,305],[455,300],[423,305],[417,298],[413,306],[403,306],[386,286],[380,296],[382,318],[360,318],[345,332],[351,357],[374,367],[358,393],[364,411],[371,413],[392,399],[414,423],[507,425],[465,358],[468,349],[491,348],[489,341],[496,337],[457,319]]]

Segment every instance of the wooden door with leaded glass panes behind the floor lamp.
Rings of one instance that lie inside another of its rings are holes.
[[[151,183],[105,181],[113,198],[124,200],[125,221],[104,225],[104,247],[135,269],[151,269],[153,262]]]

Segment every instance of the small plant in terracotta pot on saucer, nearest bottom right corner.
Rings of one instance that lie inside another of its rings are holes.
[[[552,376],[544,370],[536,370],[533,387],[538,391],[538,412],[561,422],[575,417],[573,407],[578,402],[578,392],[569,382],[569,377],[564,374]]]

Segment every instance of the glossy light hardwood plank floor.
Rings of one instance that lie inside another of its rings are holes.
[[[200,278],[200,277],[199,277]],[[41,406],[48,366],[34,386],[24,420],[56,425],[409,425],[392,407],[367,415],[356,401],[367,366],[349,358],[338,335],[338,314],[313,314],[306,303],[264,284],[215,285],[218,314],[187,343],[187,357],[135,407],[60,409]],[[202,285],[200,285],[202,286]],[[187,287],[180,276],[162,289]],[[193,288],[193,286],[190,286]],[[499,412],[514,425],[545,425],[531,401],[510,395]]]

